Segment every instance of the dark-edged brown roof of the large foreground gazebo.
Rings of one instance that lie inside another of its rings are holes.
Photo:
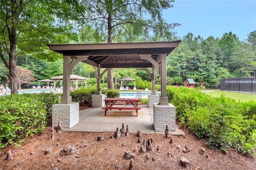
[[[88,44],[48,44],[52,51],[70,56],[71,59],[85,57],[82,62],[101,68],[152,68],[152,62],[142,55],[150,55],[150,60],[160,63],[160,54],[167,56],[181,41],[169,42],[126,42]]]

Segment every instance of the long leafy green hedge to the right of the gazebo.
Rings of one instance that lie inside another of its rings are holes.
[[[210,148],[237,148],[242,154],[255,155],[256,102],[238,102],[211,97],[198,89],[168,87],[169,102],[176,117],[200,138],[208,138]]]

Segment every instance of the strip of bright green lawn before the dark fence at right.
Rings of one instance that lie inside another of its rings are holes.
[[[238,93],[238,92],[231,92],[231,91],[211,91],[206,92],[209,95],[219,97],[221,94],[224,94],[226,97],[231,97],[236,99],[237,101],[256,101],[256,95],[250,93]]]

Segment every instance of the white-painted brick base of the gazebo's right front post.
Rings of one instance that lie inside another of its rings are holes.
[[[176,130],[176,107],[169,103],[168,106],[154,103],[153,124],[156,132],[164,132],[166,125],[169,131]]]

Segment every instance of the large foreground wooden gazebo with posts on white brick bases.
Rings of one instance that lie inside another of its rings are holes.
[[[106,71],[112,68],[141,68],[150,75],[152,91],[148,95],[148,107],[153,107],[155,131],[176,130],[176,109],[169,103],[166,90],[166,58],[180,44],[168,42],[125,42],[125,43],[90,43],[90,44],[48,44],[52,51],[63,55],[63,95],[60,104],[52,106],[52,125],[58,125],[63,117],[65,128],[79,123],[79,103],[72,102],[70,96],[70,75],[79,62],[92,65],[97,73],[97,91],[92,95],[92,107],[105,105],[100,80]],[[148,69],[148,68],[152,68]],[[161,96],[156,94],[155,71],[161,78]],[[64,115],[63,115],[64,114]],[[162,119],[162,118],[165,119]]]

